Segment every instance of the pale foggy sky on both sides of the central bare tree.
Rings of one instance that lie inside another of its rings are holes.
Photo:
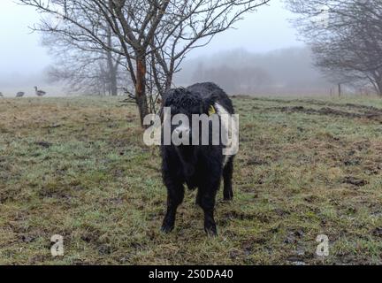
[[[271,0],[269,6],[247,14],[235,29],[218,34],[210,45],[193,50],[188,57],[238,48],[258,53],[301,46],[287,20],[292,17],[280,0]],[[0,91],[15,87],[29,90],[37,83],[42,84],[42,88],[49,88],[42,80],[42,73],[52,63],[52,58],[40,45],[41,35],[31,33],[28,28],[39,19],[34,8],[19,5],[17,0],[0,1]]]

